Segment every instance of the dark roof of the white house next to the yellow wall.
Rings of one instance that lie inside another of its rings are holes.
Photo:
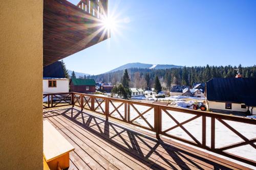
[[[44,67],[43,77],[47,78],[65,78],[65,74],[60,61],[56,61]]]

